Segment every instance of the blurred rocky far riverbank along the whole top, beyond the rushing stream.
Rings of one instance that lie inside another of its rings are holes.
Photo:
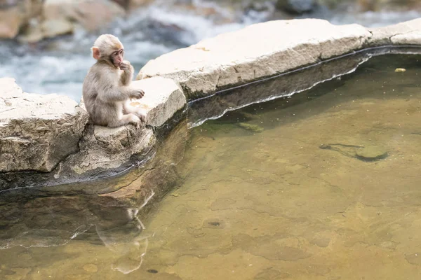
[[[303,14],[318,18],[326,11],[363,13],[421,10],[421,3],[416,0],[8,0],[0,1],[0,38],[36,43],[46,38],[74,34],[76,29],[98,31],[107,28],[116,19],[126,18],[135,10],[146,10],[147,6],[159,3],[177,7],[186,13],[194,11],[197,15],[215,18],[219,22],[232,20],[218,11],[219,6],[243,15],[265,12],[262,20],[290,19]]]

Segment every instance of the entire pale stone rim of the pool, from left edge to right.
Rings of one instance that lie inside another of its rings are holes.
[[[133,86],[146,94],[133,105],[147,112],[147,126],[139,130],[88,125],[83,103],[22,92],[13,78],[0,78],[0,191],[35,186],[25,174],[48,186],[122,174],[133,167],[133,156],[138,165],[153,158],[157,134],[185,117],[187,101],[387,45],[421,45],[421,19],[374,29],[276,20],[220,34],[140,69]]]

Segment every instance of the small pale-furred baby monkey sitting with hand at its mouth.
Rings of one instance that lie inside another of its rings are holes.
[[[123,60],[123,44],[116,36],[101,35],[92,52],[98,61],[83,81],[83,101],[91,121],[108,127],[145,123],[145,113],[130,105],[130,99],[140,99],[145,92],[129,87],[133,66]]]

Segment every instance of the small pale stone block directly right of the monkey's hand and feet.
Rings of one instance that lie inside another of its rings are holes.
[[[171,79],[156,77],[136,80],[131,86],[145,91],[145,96],[133,100],[131,105],[145,110],[147,125],[152,127],[160,127],[186,105],[180,85]]]

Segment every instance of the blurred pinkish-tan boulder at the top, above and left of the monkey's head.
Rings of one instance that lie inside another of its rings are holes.
[[[105,27],[117,17],[125,15],[124,8],[114,1],[46,0],[44,20],[77,22],[88,31]]]

